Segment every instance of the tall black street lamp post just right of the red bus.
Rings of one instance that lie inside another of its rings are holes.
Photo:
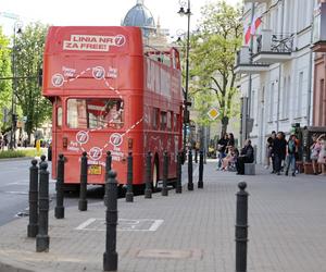
[[[188,112],[188,87],[189,87],[189,47],[190,47],[190,0],[188,4],[185,1],[179,1],[180,10],[178,11],[179,15],[187,15],[188,18],[188,28],[187,28],[187,45],[186,45],[186,89],[185,89],[185,102],[184,102],[184,152],[186,152],[186,136],[187,136],[187,124],[189,124],[189,112]],[[187,4],[187,10],[185,7]]]

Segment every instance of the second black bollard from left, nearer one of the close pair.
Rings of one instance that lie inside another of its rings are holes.
[[[48,235],[49,227],[49,171],[48,163],[43,160],[40,162],[39,171],[39,212],[38,212],[38,234],[36,235],[36,251],[48,252],[50,246],[50,237]]]

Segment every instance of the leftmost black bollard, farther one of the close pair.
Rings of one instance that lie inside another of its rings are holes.
[[[27,225],[27,237],[36,237],[38,232],[38,166],[36,164],[37,160],[32,160],[32,166],[29,168],[29,223]]]

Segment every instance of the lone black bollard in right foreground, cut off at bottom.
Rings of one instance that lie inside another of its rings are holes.
[[[237,193],[236,221],[236,272],[247,272],[247,243],[248,243],[248,196],[244,190],[247,184],[240,182]]]

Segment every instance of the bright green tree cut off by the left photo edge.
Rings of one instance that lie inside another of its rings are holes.
[[[7,131],[9,124],[4,123],[4,111],[10,109],[11,106],[11,81],[9,79],[12,74],[10,70],[10,49],[9,39],[2,34],[2,28],[0,27],[0,132]],[[9,111],[7,111],[7,118]],[[9,119],[11,121],[11,119]]]

